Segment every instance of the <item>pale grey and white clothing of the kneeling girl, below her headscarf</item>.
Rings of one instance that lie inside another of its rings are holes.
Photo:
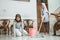
[[[22,34],[28,34],[27,31],[24,30],[23,22],[13,22],[13,31],[14,35],[21,36]]]

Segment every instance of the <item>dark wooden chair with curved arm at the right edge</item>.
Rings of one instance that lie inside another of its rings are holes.
[[[54,35],[56,35],[56,31],[60,29],[60,13],[56,13],[56,14],[52,13],[52,15],[55,16],[57,21],[53,27]]]

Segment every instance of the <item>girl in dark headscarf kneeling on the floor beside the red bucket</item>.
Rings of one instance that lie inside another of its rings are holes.
[[[28,35],[28,33],[24,30],[20,14],[16,14],[15,16],[15,20],[13,22],[13,30],[14,35],[16,36],[22,36],[23,34]]]

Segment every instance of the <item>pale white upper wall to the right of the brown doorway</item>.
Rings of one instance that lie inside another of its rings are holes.
[[[60,6],[60,0],[48,0],[49,13],[53,13]]]

